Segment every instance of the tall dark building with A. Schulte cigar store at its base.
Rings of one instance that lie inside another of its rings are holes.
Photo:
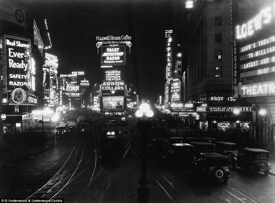
[[[248,127],[251,111],[233,112],[231,1],[194,1],[185,33],[187,101],[197,106],[191,124],[205,130]]]

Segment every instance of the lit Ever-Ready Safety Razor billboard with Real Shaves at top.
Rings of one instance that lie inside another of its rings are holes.
[[[31,91],[31,40],[4,35],[3,83],[5,91],[20,87]]]

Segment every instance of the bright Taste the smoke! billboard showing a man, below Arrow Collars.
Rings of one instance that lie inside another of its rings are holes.
[[[103,110],[124,110],[124,97],[102,97]]]

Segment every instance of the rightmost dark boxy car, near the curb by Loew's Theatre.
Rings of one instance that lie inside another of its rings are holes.
[[[269,164],[269,151],[257,148],[243,148],[238,155],[236,164],[241,168],[246,168],[248,172],[263,172],[266,176],[271,170]]]

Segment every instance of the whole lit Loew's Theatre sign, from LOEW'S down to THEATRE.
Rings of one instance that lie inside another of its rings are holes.
[[[274,96],[274,1],[255,1],[251,11],[234,25],[234,97]]]

